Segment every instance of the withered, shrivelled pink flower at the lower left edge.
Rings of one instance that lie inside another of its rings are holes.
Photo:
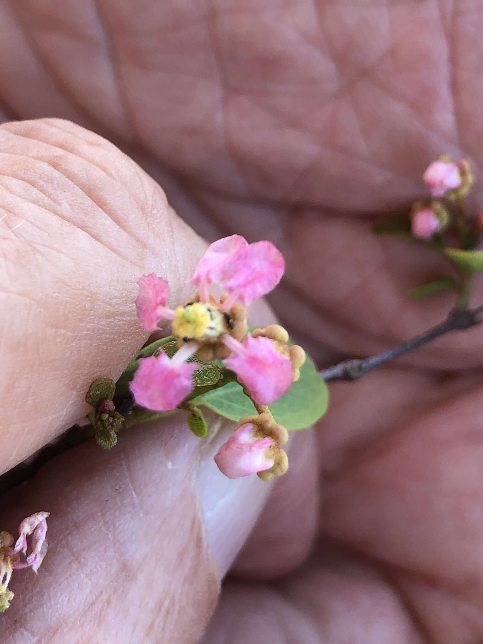
[[[37,573],[44,556],[47,553],[47,517],[48,512],[36,512],[28,516],[19,526],[19,538],[14,545],[14,535],[10,532],[0,532],[0,612],[6,611],[14,593],[8,590],[8,584],[14,570],[32,568]],[[27,555],[27,537],[30,540],[30,554]],[[20,554],[24,555],[21,560]]]

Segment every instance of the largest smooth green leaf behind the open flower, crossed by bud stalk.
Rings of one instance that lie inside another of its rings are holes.
[[[229,383],[218,389],[202,393],[192,401],[207,407],[220,416],[238,422],[242,416],[256,413],[256,410],[238,383]],[[292,384],[289,392],[270,405],[277,422],[289,431],[303,430],[318,421],[328,406],[328,389],[319,376],[316,366],[307,356],[300,369],[299,380]]]

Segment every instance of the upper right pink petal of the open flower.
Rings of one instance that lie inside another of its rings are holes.
[[[240,249],[225,265],[220,278],[229,293],[249,305],[274,289],[285,271],[285,260],[272,242],[255,242]]]

